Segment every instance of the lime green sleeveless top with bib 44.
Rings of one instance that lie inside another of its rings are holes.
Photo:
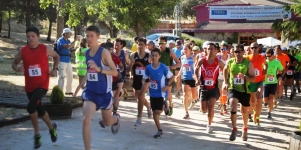
[[[229,89],[236,90],[238,92],[250,93],[250,82],[244,79],[237,78],[237,74],[243,73],[248,75],[248,66],[250,61],[244,59],[242,63],[236,63],[236,58],[231,58],[228,62],[230,70]]]

